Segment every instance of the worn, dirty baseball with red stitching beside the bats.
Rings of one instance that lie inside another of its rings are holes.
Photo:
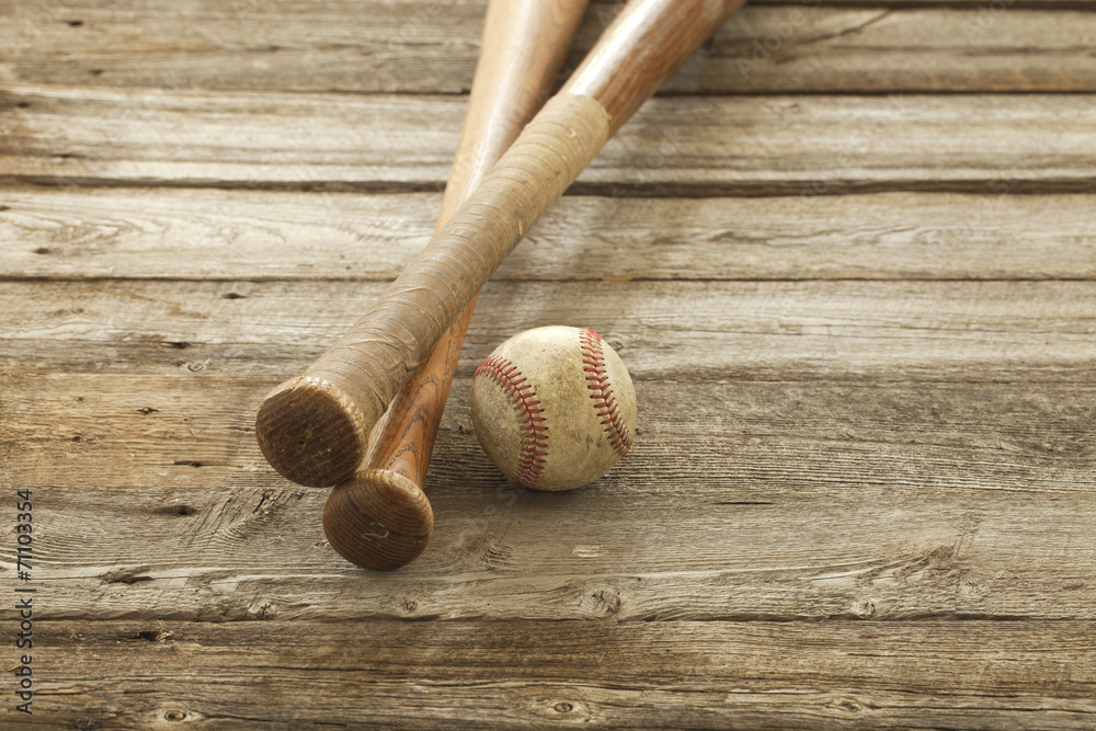
[[[480,363],[472,424],[511,482],[571,490],[593,482],[631,447],[636,388],[593,330],[526,330]]]

